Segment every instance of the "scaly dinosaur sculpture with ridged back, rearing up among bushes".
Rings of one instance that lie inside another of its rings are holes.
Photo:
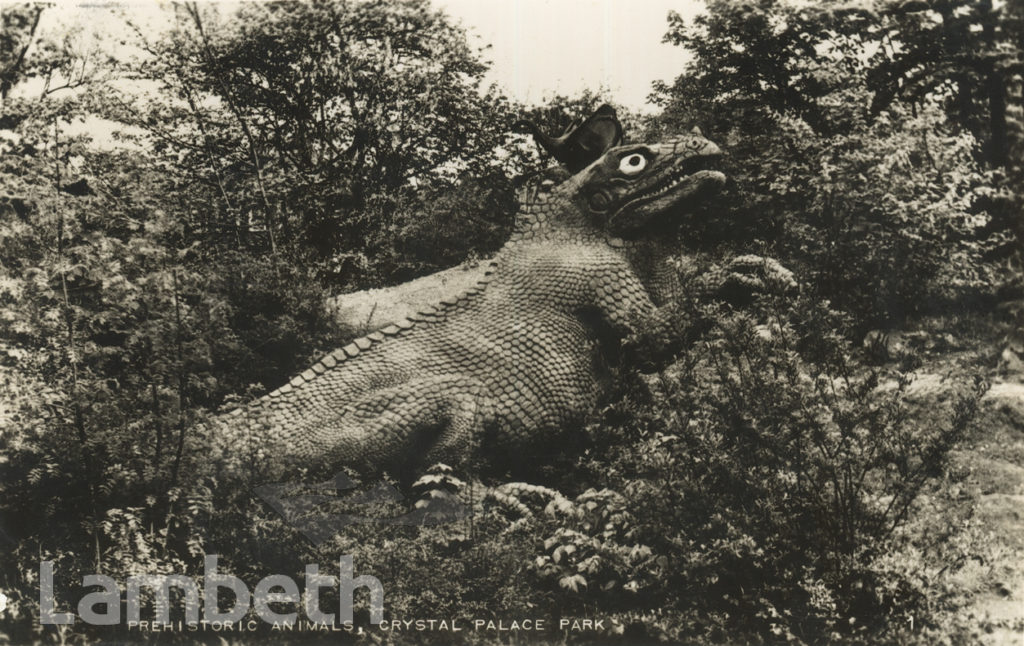
[[[528,459],[596,403],[600,346],[656,325],[674,287],[669,250],[644,235],[717,192],[725,177],[707,166],[719,155],[696,135],[609,149],[520,210],[474,289],[215,420],[220,462],[265,479]]]

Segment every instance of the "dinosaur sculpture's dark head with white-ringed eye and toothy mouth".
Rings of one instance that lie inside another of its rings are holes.
[[[608,232],[631,238],[662,214],[682,214],[716,195],[722,152],[694,129],[655,144],[607,150],[571,180],[578,206]]]

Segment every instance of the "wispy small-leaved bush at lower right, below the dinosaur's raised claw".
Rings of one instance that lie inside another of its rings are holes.
[[[830,317],[810,304],[761,325],[715,315],[612,465],[633,513],[658,519],[641,541],[678,564],[663,585],[686,607],[707,600],[700,616],[724,612],[760,632],[755,640],[819,643],[914,611],[911,596],[878,605],[873,559],[942,473],[980,396],[940,427],[908,415],[907,380],[880,387],[881,375],[856,369]]]

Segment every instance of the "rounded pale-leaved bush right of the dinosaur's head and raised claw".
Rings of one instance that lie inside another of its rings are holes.
[[[783,219],[783,262],[860,333],[990,296],[995,268],[982,259],[992,241],[975,205],[990,179],[974,138],[944,128],[935,106],[893,106],[870,121],[851,113],[830,136],[779,122],[784,143],[764,160],[764,177],[782,204],[802,203]]]

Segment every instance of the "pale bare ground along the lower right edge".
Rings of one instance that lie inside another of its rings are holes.
[[[991,382],[950,465],[946,493],[963,502],[956,516],[971,528],[971,541],[976,543],[968,549],[968,562],[955,564],[953,580],[970,599],[967,614],[975,627],[975,640],[1020,646],[1024,644],[1024,372],[1006,370],[1006,361],[1000,368],[1005,322],[975,315],[958,321],[924,320],[914,328],[908,336],[933,347],[920,355],[923,361],[914,370],[908,397],[941,410],[947,377],[980,374]],[[923,408],[922,415],[929,413]]]

